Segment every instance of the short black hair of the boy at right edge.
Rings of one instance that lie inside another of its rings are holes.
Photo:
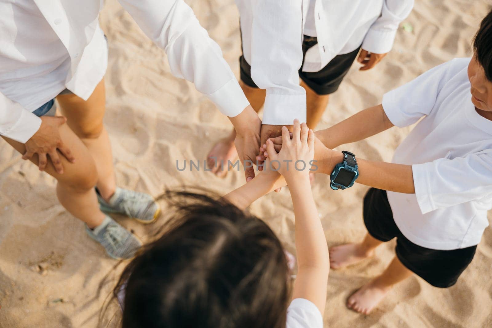
[[[473,52],[485,70],[485,77],[492,82],[492,11],[480,23],[473,40]]]

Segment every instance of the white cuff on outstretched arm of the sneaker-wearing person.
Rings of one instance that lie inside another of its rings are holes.
[[[249,101],[236,78],[231,79],[220,89],[206,96],[215,103],[222,114],[231,118],[241,114],[249,105]]]

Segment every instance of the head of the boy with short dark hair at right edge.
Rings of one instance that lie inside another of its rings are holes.
[[[476,108],[492,112],[492,11],[482,20],[475,35],[473,53],[468,65],[471,101]]]

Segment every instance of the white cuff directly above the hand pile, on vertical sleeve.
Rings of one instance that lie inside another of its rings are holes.
[[[306,94],[268,93],[263,108],[263,124],[292,125],[306,122]]]

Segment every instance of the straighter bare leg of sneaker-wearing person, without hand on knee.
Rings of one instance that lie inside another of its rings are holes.
[[[106,109],[104,79],[96,86],[92,95],[84,101],[75,94],[57,96],[62,114],[67,124],[82,140],[95,161],[97,169],[97,189],[108,201],[116,190],[113,168],[113,155],[103,118]]]

